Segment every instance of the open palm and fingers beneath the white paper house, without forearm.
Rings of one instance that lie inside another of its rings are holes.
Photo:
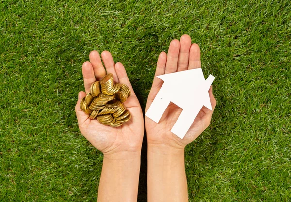
[[[156,76],[194,68],[201,68],[199,46],[197,44],[191,44],[191,38],[188,35],[183,35],[180,41],[177,39],[173,40],[170,43],[168,55],[162,52],[159,56],[155,78],[146,103],[146,111],[163,84],[163,81]],[[208,92],[212,109],[214,110],[216,100],[212,93],[212,86]],[[213,111],[203,106],[185,137],[180,139],[170,130],[177,121],[181,111],[182,109],[178,106],[170,103],[158,124],[148,117],[145,117],[148,145],[184,148],[209,126],[213,113]]]

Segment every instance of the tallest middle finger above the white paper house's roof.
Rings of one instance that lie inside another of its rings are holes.
[[[189,35],[184,34],[180,39],[180,53],[178,57],[177,71],[184,71],[188,69],[190,47],[191,38]]]

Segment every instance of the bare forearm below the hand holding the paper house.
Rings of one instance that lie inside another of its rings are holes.
[[[148,145],[148,202],[188,202],[184,149]]]

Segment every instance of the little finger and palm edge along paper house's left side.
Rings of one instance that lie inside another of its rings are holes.
[[[153,102],[160,88],[162,87],[163,81],[160,78],[157,78],[159,75],[165,74],[165,67],[167,62],[167,54],[165,52],[161,52],[159,55],[159,59],[157,62],[157,69],[153,81],[153,85],[148,94],[147,102],[146,102],[146,111]]]

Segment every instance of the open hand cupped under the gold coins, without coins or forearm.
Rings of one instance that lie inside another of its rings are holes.
[[[123,158],[124,154],[141,150],[144,135],[143,113],[124,66],[120,62],[115,64],[108,51],[103,51],[101,57],[107,73],[113,74],[114,81],[126,84],[131,90],[131,96],[124,102],[131,114],[131,119],[120,127],[111,127],[100,124],[96,119],[89,119],[89,115],[80,109],[80,101],[86,93],[90,92],[91,84],[106,75],[97,51],[90,53],[90,62],[83,63],[82,72],[86,93],[79,92],[75,111],[81,133],[94,147],[103,152],[104,156],[114,155],[114,158]]]

